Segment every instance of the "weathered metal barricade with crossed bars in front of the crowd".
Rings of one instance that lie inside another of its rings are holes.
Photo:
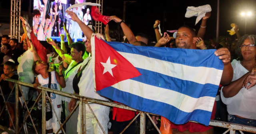
[[[14,88],[12,89],[12,92],[15,89],[15,94],[16,94],[16,105],[15,106],[16,106],[16,109],[18,109],[18,102],[19,102],[18,92],[19,91],[20,91],[20,93],[22,95],[22,98],[24,99],[22,91],[21,91],[21,89],[19,89],[19,85],[27,86],[27,87],[33,87],[33,85],[30,84],[30,83],[24,83],[24,82],[16,81],[16,80],[13,80],[13,79],[7,79],[7,81],[15,83]],[[67,120],[70,118],[70,116],[73,114],[74,110],[76,110],[76,108],[78,107],[79,104],[81,106],[81,112],[80,112],[80,122],[81,122],[80,133],[81,134],[86,134],[86,120],[85,120],[85,116],[86,116],[86,105],[87,105],[88,108],[90,109],[90,111],[92,112],[94,118],[96,118],[96,120],[97,120],[97,122],[98,122],[98,124],[99,124],[99,126],[100,126],[100,128],[102,130],[102,132],[104,134],[106,134],[106,132],[104,132],[104,129],[102,128],[100,122],[98,121],[96,115],[94,114],[94,112],[93,112],[93,110],[90,107],[90,104],[88,102],[96,103],[96,104],[101,104],[101,105],[105,105],[105,106],[112,106],[112,107],[122,108],[122,109],[126,109],[126,110],[132,110],[132,111],[135,111],[135,112],[139,112],[139,114],[137,114],[132,119],[132,121],[128,124],[128,126],[130,126],[130,124],[132,124],[132,122],[138,116],[140,116],[140,134],[145,134],[146,133],[145,132],[145,126],[146,126],[145,119],[146,119],[146,116],[148,116],[148,118],[150,119],[152,124],[155,126],[156,130],[158,131],[158,133],[161,134],[160,130],[158,129],[156,124],[153,122],[153,120],[152,120],[152,118],[150,116],[150,114],[152,114],[152,113],[147,113],[147,112],[143,112],[143,111],[140,111],[140,110],[136,110],[136,109],[130,108],[129,106],[126,106],[124,104],[118,104],[118,103],[109,102],[109,101],[102,101],[102,100],[98,100],[98,99],[92,99],[92,98],[83,97],[83,96],[76,95],[76,94],[65,93],[65,92],[62,92],[62,91],[57,91],[57,90],[54,90],[54,89],[49,89],[49,88],[46,88],[46,87],[38,87],[38,89],[42,90],[42,92],[38,95],[38,98],[36,99],[36,102],[33,104],[32,108],[30,110],[29,110],[27,104],[24,103],[25,107],[26,107],[26,110],[28,112],[28,115],[25,117],[25,121],[26,121],[26,119],[28,119],[28,117],[31,119],[36,134],[38,134],[38,133],[40,134],[40,132],[37,132],[35,124],[34,124],[33,119],[32,119],[30,114],[31,114],[34,106],[36,106],[37,101],[42,96],[42,134],[46,134],[46,97],[49,98],[47,92],[51,92],[51,93],[55,93],[57,95],[61,95],[61,96],[65,96],[65,97],[70,97],[70,98],[74,98],[74,99],[78,99],[79,100],[79,103],[76,104],[76,106],[74,107],[72,112],[70,112],[70,115],[66,118],[66,120],[63,123],[61,123],[60,119],[58,119],[58,123],[60,124],[60,129],[56,132],[56,134],[58,134],[58,132],[60,130],[62,130],[62,132],[64,134],[66,134],[64,129],[63,129],[63,126],[67,122]],[[1,93],[2,93],[2,89],[1,89]],[[9,99],[9,97],[8,97],[8,99]],[[8,101],[8,99],[4,100],[4,106],[1,109],[0,116],[2,115],[4,108],[7,108],[6,101]],[[50,99],[49,99],[49,101],[50,101]],[[52,106],[52,102],[51,101],[50,101],[50,105]],[[54,111],[54,114],[56,115],[54,107],[52,107],[52,110]],[[7,112],[8,112],[8,108],[7,108]],[[9,112],[8,112],[8,114],[10,116]],[[152,114],[152,115],[156,115],[156,114]],[[15,130],[15,134],[19,134],[20,131],[22,130],[22,127],[23,127],[23,124],[25,123],[25,121],[19,126],[18,110],[16,110],[16,112],[15,112],[15,117],[16,117],[16,121],[15,121],[15,124],[14,124],[14,126],[15,126],[14,130]],[[56,116],[56,117],[58,117],[58,116]],[[13,121],[12,121],[12,123],[13,123]],[[256,133],[256,127],[243,126],[243,125],[240,125],[240,124],[232,124],[232,123],[229,123],[229,122],[221,122],[221,121],[211,120],[209,125],[210,126],[221,127],[221,128],[227,128],[228,130],[226,130],[226,132],[224,132],[223,134],[226,134],[228,132],[230,132],[230,134],[235,134],[236,131],[239,131],[241,134],[244,134],[243,132]],[[126,126],[126,128],[120,134],[122,134],[128,128],[128,126]],[[14,134],[13,132],[7,130],[5,127],[3,127],[1,125],[0,125],[0,129],[4,130],[4,131],[6,131],[6,132],[8,132],[10,134]]]

